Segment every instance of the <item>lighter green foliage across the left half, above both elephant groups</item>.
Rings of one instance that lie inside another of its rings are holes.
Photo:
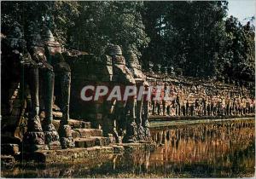
[[[30,20],[49,18],[55,38],[67,48],[102,54],[108,43],[117,43],[140,56],[149,42],[143,2],[2,2],[1,9],[3,33],[11,20],[26,29]]]

